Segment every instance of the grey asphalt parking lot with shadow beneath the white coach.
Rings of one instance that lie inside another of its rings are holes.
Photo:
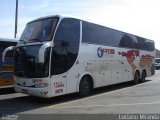
[[[98,88],[85,98],[78,94],[44,99],[13,88],[0,89],[0,114],[155,114],[160,113],[160,71],[146,82]]]

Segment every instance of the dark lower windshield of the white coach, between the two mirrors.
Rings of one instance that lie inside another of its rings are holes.
[[[17,47],[15,52],[15,75],[19,77],[37,78],[49,75],[49,53],[45,51],[44,63],[39,63],[38,52],[41,45]]]

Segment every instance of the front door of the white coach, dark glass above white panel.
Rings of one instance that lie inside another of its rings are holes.
[[[54,46],[51,59],[51,86],[54,96],[66,94],[67,53],[61,46]]]

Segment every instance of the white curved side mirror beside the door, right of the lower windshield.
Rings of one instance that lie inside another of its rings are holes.
[[[44,43],[40,49],[39,49],[39,58],[38,58],[38,61],[39,63],[44,63],[44,53],[46,51],[47,48],[49,47],[53,47],[53,42],[47,42],[47,43]]]

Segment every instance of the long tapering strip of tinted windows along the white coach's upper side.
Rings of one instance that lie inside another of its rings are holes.
[[[82,42],[149,51],[155,49],[154,43],[144,38],[84,21]]]

